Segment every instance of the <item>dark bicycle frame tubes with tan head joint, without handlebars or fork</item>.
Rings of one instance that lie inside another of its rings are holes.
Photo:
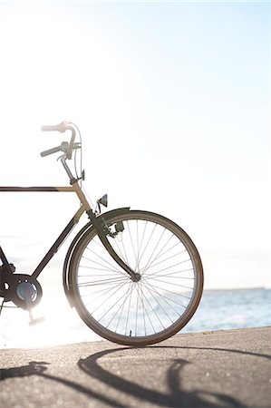
[[[67,224],[67,226],[63,229],[60,236],[55,240],[55,242],[53,243],[53,246],[45,254],[44,258],[41,260],[39,265],[34,269],[34,272],[31,276],[36,279],[41,274],[44,267],[52,259],[53,255],[61,247],[61,245],[63,244],[63,241],[72,232],[73,228],[78,223],[79,219],[81,219],[82,214],[85,211],[91,211],[92,208],[88,200],[86,199],[85,195],[83,194],[78,181],[73,182],[71,187],[0,187],[0,192],[1,191],[2,192],[73,192],[73,193],[76,193],[78,198],[80,199],[80,202],[81,202],[80,208],[76,211],[76,213],[74,214],[70,222]],[[10,269],[10,266],[7,263],[4,251],[1,248],[1,246],[0,246],[0,258],[2,259],[2,262],[5,265],[5,267]]]

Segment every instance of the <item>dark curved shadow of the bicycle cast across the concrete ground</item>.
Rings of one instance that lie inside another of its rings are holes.
[[[210,350],[218,352],[227,352],[239,355],[253,355],[259,358],[271,359],[269,355],[261,355],[256,353],[244,352],[241,350],[230,350],[222,348],[211,348],[211,347],[181,347],[181,346],[159,346],[152,345],[151,347],[142,347],[139,349],[131,347],[119,347],[109,350],[104,350],[102,352],[90,355],[85,359],[80,359],[77,363],[78,367],[85,373],[90,375],[92,378],[98,380],[102,384],[108,385],[114,390],[117,390],[121,395],[127,397],[134,397],[140,400],[141,403],[154,403],[157,406],[167,406],[167,407],[218,407],[218,406],[233,406],[233,407],[245,407],[246,405],[237,401],[237,399],[226,395],[224,393],[209,393],[202,389],[195,389],[188,392],[183,387],[183,371],[187,364],[192,364],[184,359],[174,359],[169,365],[166,372],[166,382],[168,386],[169,393],[163,393],[161,391],[147,388],[143,385],[136,384],[131,379],[125,379],[121,375],[113,374],[111,371],[106,370],[102,367],[100,359],[106,355],[112,355],[114,353],[120,353],[126,350],[132,350],[133,353],[138,351],[141,353],[146,349],[180,349],[180,350]],[[15,377],[25,377],[38,375],[44,377],[47,380],[54,381],[56,383],[63,384],[75,390],[78,393],[83,393],[89,398],[94,398],[97,403],[106,403],[109,406],[124,407],[127,406],[120,403],[117,398],[111,398],[106,396],[105,393],[99,393],[92,389],[90,386],[84,386],[82,384],[76,383],[72,380],[62,378],[53,374],[47,373],[48,365],[50,363],[41,361],[32,361],[29,364],[22,365],[19,367],[0,369],[0,381],[4,381],[7,378]],[[131,368],[131,374],[135,374],[136,366]],[[148,379],[146,378],[146,381]],[[216,403],[210,403],[210,397],[216,401]]]

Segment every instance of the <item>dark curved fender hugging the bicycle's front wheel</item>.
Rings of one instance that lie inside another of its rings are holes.
[[[128,211],[130,211],[130,207],[123,207],[121,209],[112,209],[111,211],[107,211],[101,214],[99,218],[102,217],[103,219],[107,220],[107,219],[111,219],[111,217],[114,215],[120,215]],[[67,299],[71,307],[73,307],[73,296],[72,296],[72,291],[70,288],[70,277],[69,277],[71,259],[73,257],[73,253],[74,253],[74,250],[78,242],[82,238],[83,234],[90,228],[92,228],[92,223],[88,222],[84,227],[82,227],[82,229],[78,232],[76,237],[73,238],[73,242],[67,251],[67,254],[66,254],[66,257],[63,263],[63,289],[64,289],[65,295],[67,296]]]

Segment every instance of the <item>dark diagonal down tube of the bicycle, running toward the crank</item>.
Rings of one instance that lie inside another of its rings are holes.
[[[78,211],[74,214],[73,219],[71,219],[69,224],[63,229],[63,232],[61,233],[61,235],[56,239],[53,246],[49,249],[47,254],[44,256],[42,261],[39,263],[39,265],[34,269],[32,276],[35,279],[40,275],[44,267],[52,259],[53,255],[58,251],[60,246],[63,244],[63,241],[65,240],[65,238],[67,238],[68,235],[71,233],[72,229],[78,223],[84,211],[85,209],[83,206],[81,206],[80,209],[78,209]]]

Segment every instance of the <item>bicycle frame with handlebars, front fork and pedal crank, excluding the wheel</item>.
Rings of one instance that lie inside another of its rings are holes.
[[[58,251],[58,249],[63,244],[63,241],[69,236],[72,232],[75,225],[79,222],[82,217],[82,214],[86,212],[90,222],[85,227],[92,227],[96,229],[97,236],[101,239],[102,245],[111,255],[111,257],[115,260],[115,262],[125,271],[128,275],[130,275],[131,279],[136,282],[140,279],[140,274],[136,273],[129,267],[117,254],[117,252],[111,247],[111,244],[107,238],[107,236],[114,238],[116,236],[116,232],[111,232],[111,229],[107,226],[103,217],[99,217],[100,212],[92,210],[92,207],[88,200],[86,199],[82,188],[79,184],[79,180],[83,179],[83,172],[81,177],[74,178],[72,171],[70,170],[69,166],[66,163],[66,160],[72,159],[73,150],[81,148],[81,143],[74,143],[75,138],[75,131],[73,126],[69,125],[67,122],[62,122],[60,125],[57,126],[45,126],[42,128],[44,131],[72,131],[72,138],[70,143],[63,142],[60,146],[56,148],[50,149],[48,151],[43,151],[41,156],[47,156],[49,154],[55,153],[57,151],[63,151],[64,154],[61,156],[60,161],[63,164],[63,168],[67,173],[69,180],[70,180],[70,187],[0,187],[0,192],[73,192],[77,195],[78,199],[80,200],[80,208],[76,211],[73,215],[73,218],[70,222],[66,225],[63,229],[60,236],[54,241],[53,246],[48,250],[45,254],[41,262],[38,266],[34,269],[32,275],[25,275],[25,274],[14,274],[15,267],[13,264],[10,264],[5,257],[5,253],[0,246],[0,259],[3,262],[3,265],[0,266],[0,296],[4,297],[4,301],[12,300],[15,305],[26,308],[29,310],[30,313],[30,321],[34,321],[31,315],[31,309],[35,304],[37,304],[42,296],[42,287],[40,286],[39,282],[37,281],[37,277],[41,274],[44,270],[44,267],[48,264],[48,262],[52,259],[53,255]],[[107,203],[102,203],[102,199],[98,201],[99,209],[100,203],[107,206]],[[79,232],[81,234],[85,227]],[[67,256],[71,254],[73,250],[74,239],[72,243],[72,249],[68,249]],[[64,261],[64,268],[67,266],[67,256]],[[2,280],[3,278],[3,280]],[[68,289],[65,285],[65,272],[63,270],[63,282],[64,282],[64,290],[66,295],[68,296]],[[1,312],[1,309],[0,309]]]

